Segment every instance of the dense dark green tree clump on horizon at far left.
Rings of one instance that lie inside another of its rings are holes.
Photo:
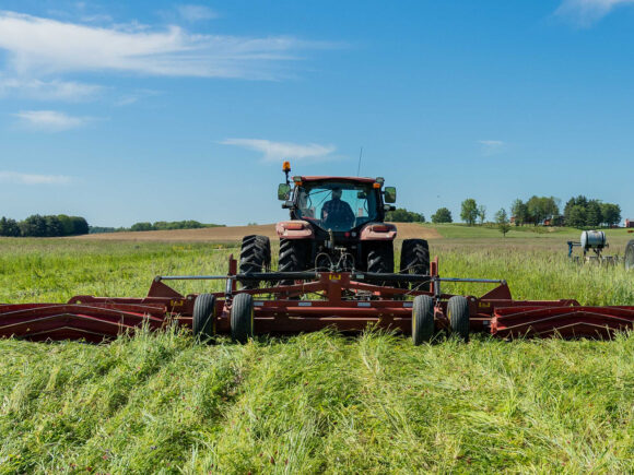
[[[0,218],[0,236],[5,237],[60,237],[82,234],[89,234],[89,224],[81,216],[34,214],[24,221],[4,216]]]

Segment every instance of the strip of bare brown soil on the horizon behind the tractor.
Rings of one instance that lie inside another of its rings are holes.
[[[400,223],[398,226],[399,239],[441,239],[436,229],[423,227],[414,223]],[[260,224],[255,226],[227,226],[206,227],[202,229],[175,229],[175,230],[144,230],[136,233],[103,233],[86,236],[75,236],[68,239],[91,240],[126,240],[126,241],[239,241],[243,236],[259,234],[277,239],[274,224]]]

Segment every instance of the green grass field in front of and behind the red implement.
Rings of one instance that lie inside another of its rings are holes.
[[[578,233],[471,230],[438,228],[443,275],[506,278],[521,298],[634,305],[623,269],[567,261]],[[613,233],[611,252],[627,236]],[[224,273],[237,251],[0,239],[0,301],[140,296],[156,274]],[[96,346],[7,340],[0,355],[0,473],[634,471],[632,335],[414,348],[368,330],[207,346],[173,330]]]

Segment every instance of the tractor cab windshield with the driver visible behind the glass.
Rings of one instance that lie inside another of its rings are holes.
[[[376,192],[369,185],[306,183],[296,193],[298,217],[324,229],[350,230],[377,218]]]

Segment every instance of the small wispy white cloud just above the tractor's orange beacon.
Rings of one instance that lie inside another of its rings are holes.
[[[333,145],[320,145],[318,143],[298,144],[291,142],[272,142],[262,139],[226,139],[221,142],[224,145],[237,145],[263,154],[265,162],[279,162],[282,159],[302,158],[329,158],[337,149]]]

